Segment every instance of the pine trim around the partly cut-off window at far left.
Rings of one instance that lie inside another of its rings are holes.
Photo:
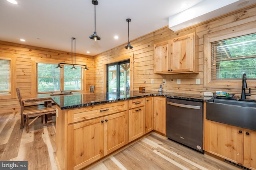
[[[16,56],[10,56],[8,53],[0,52],[1,60],[9,60],[10,61],[10,78],[11,78],[11,92],[10,94],[0,94],[0,100],[2,99],[13,99],[16,98]]]

